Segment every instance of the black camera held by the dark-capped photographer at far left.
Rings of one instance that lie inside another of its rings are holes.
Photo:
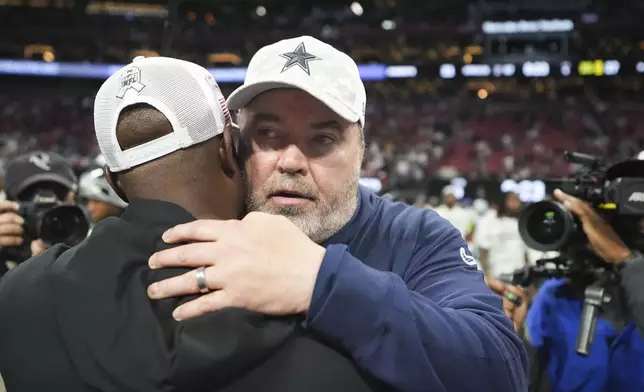
[[[39,238],[49,245],[78,245],[89,231],[83,210],[63,204],[53,191],[47,189],[37,190],[32,201],[20,203],[18,214],[25,220],[25,236]]]

